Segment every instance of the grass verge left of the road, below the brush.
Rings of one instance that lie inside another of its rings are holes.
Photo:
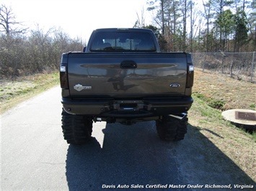
[[[37,74],[17,78],[17,80],[0,80],[0,113],[18,103],[31,98],[59,83],[58,73]]]

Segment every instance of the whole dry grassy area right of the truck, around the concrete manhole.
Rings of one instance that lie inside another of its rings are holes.
[[[223,101],[223,110],[255,109],[256,85],[197,70],[193,91],[195,102],[189,111],[190,124],[256,182],[255,134],[224,121],[221,110],[211,105],[211,102]]]

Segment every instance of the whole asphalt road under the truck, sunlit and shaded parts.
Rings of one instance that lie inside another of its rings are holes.
[[[60,99],[60,88],[52,88],[1,116],[1,190],[206,190],[252,183],[203,135],[195,139],[193,126],[185,140],[167,143],[156,135],[154,121],[101,122],[94,124],[91,143],[66,144]]]

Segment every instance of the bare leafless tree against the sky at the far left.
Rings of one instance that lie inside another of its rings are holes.
[[[26,32],[27,29],[20,29],[20,25],[22,22],[16,21],[12,8],[2,4],[0,6],[0,32],[5,32],[7,35]]]

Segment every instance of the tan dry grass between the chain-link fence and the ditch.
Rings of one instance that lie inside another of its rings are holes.
[[[256,109],[256,84],[229,78],[228,75],[196,70],[193,93],[203,95],[205,101],[223,103],[221,110]]]

